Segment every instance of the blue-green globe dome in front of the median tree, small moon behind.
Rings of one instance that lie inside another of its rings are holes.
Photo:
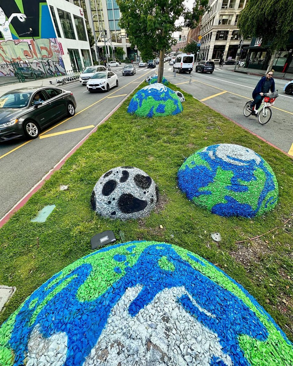
[[[132,97],[127,112],[139,117],[177,115],[183,110],[173,90],[155,83],[138,90]]]

